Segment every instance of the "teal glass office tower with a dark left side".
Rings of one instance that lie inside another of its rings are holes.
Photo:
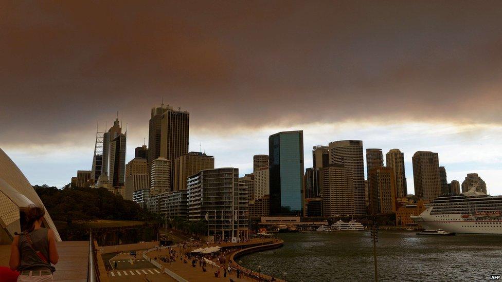
[[[303,214],[303,131],[268,138],[270,215]]]

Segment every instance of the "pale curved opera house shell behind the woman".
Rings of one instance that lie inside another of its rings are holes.
[[[0,245],[12,242],[14,233],[21,232],[23,213],[30,204],[45,209],[28,179],[0,148]],[[57,241],[61,241],[47,210],[44,225],[54,231]]]

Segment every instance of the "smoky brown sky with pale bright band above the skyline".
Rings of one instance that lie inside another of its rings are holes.
[[[163,100],[190,112],[190,151],[252,171],[268,136],[439,153],[448,181],[502,194],[502,3],[147,1],[3,3],[0,147],[32,184],[90,170],[96,124],[128,130],[127,161]],[[147,139],[148,143],[148,139]]]

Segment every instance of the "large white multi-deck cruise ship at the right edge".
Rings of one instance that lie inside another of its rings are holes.
[[[427,230],[453,233],[502,234],[502,196],[489,196],[471,186],[459,195],[442,195],[418,216],[410,216]]]

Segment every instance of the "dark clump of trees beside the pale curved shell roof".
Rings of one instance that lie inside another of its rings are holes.
[[[149,220],[152,215],[141,207],[120,195],[114,195],[105,188],[63,189],[47,185],[33,186],[53,220],[112,219],[112,220]]]

